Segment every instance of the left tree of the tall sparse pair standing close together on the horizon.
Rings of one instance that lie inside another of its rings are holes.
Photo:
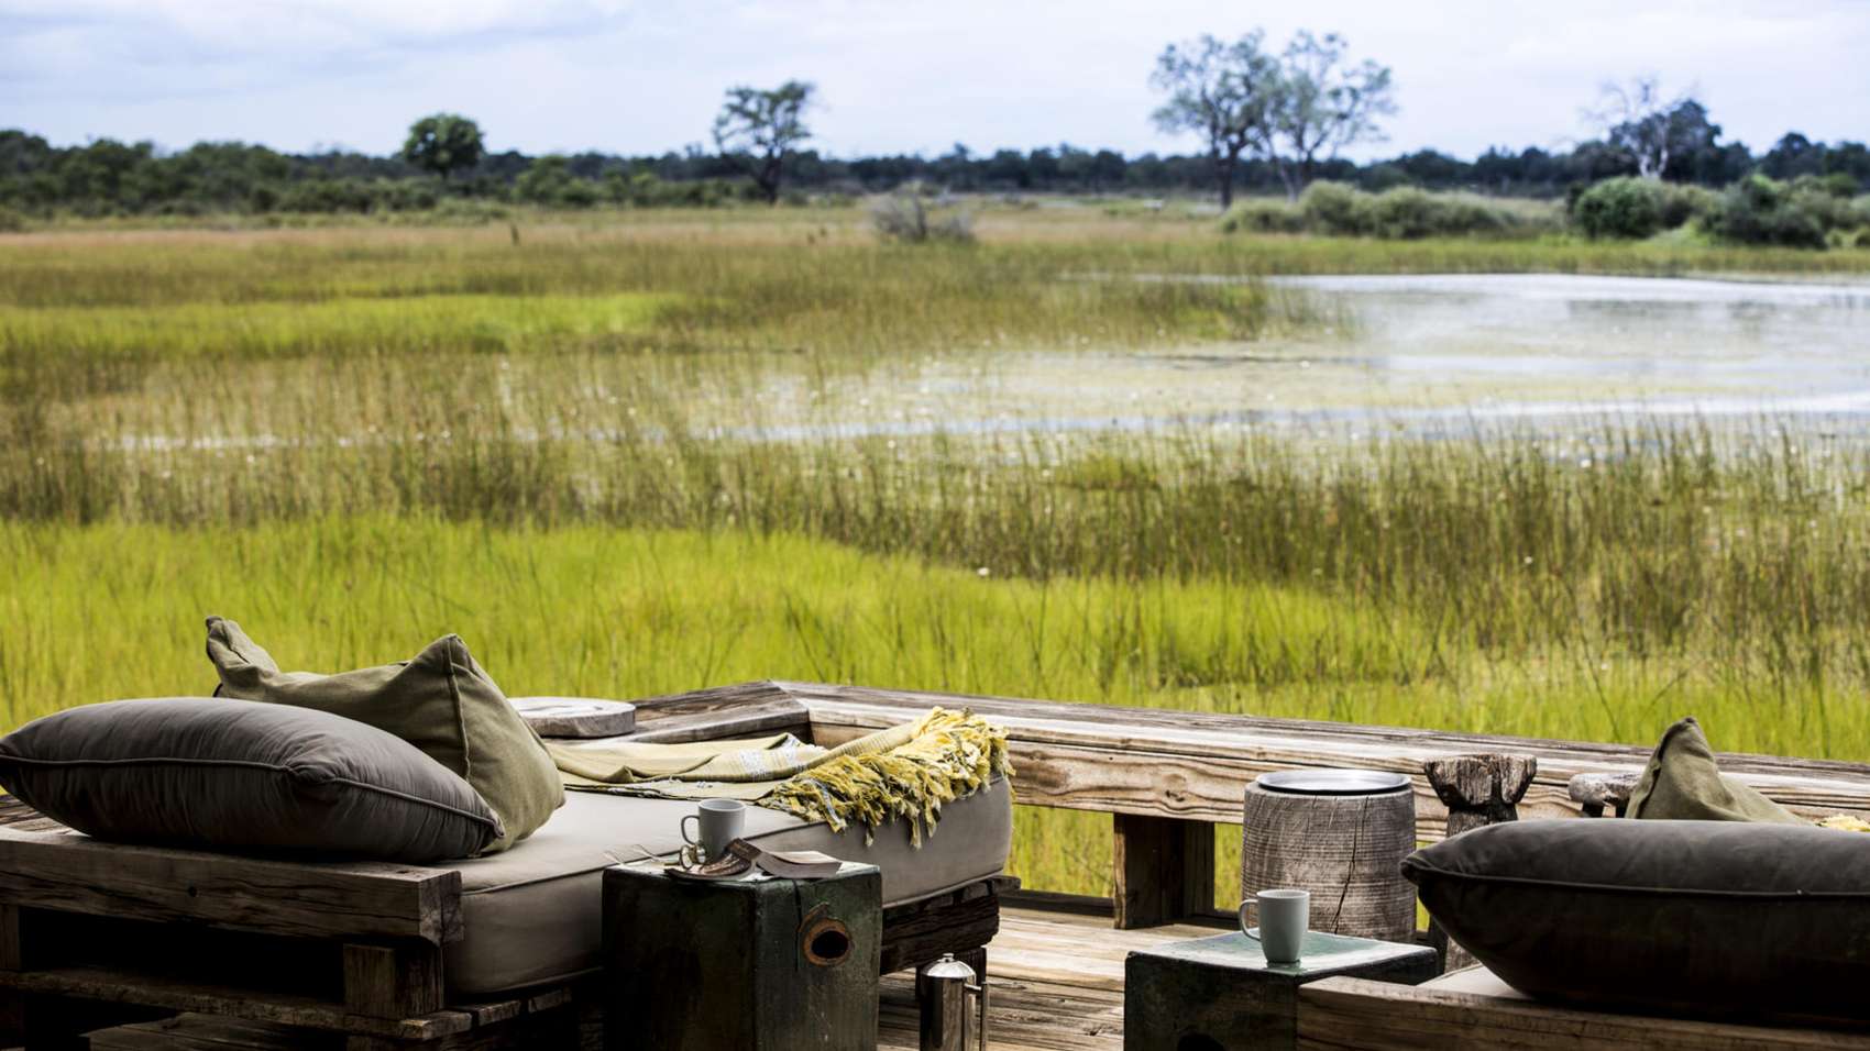
[[[1253,30],[1232,43],[1206,34],[1171,43],[1150,75],[1150,86],[1169,95],[1152,114],[1156,127],[1202,138],[1221,208],[1234,202],[1240,155],[1268,140],[1279,64],[1262,49],[1264,39]]]

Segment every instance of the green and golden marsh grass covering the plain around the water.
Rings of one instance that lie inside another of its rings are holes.
[[[1075,223],[989,213],[933,251],[810,215],[0,243],[6,720],[206,690],[219,612],[322,669],[458,630],[512,692],[798,677],[1623,742],[1696,713],[1722,748],[1870,759],[1861,443],[849,426],[924,359],[1341,322],[1135,277],[1870,252]],[[1107,834],[1023,813],[1019,871],[1101,890]]]

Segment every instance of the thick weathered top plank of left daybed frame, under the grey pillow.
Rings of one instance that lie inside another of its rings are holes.
[[[312,864],[0,828],[0,901],[305,937],[462,935],[460,873]]]

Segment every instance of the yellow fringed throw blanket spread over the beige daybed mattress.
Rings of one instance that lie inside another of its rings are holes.
[[[909,817],[911,842],[935,830],[941,806],[1010,776],[1006,731],[967,711],[922,718],[847,741],[804,744],[784,733],[699,744],[546,742],[565,787],[660,799],[739,799],[866,836]]]

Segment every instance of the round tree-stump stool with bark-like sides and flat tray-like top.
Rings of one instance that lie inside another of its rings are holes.
[[[1240,892],[1311,890],[1311,929],[1380,941],[1416,937],[1416,793],[1384,770],[1281,770],[1247,785]],[[1253,909],[1249,922],[1259,922]]]

